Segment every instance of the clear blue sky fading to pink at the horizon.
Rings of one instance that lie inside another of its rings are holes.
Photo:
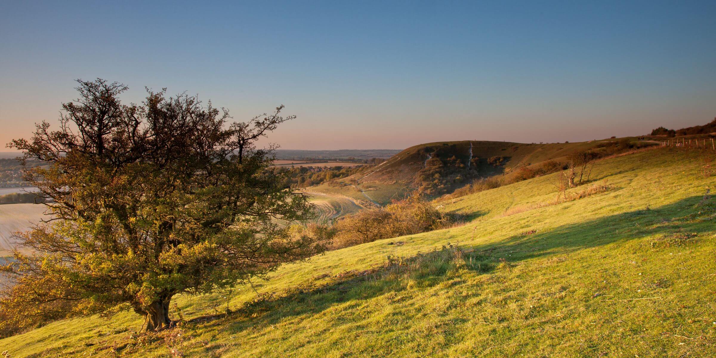
[[[0,5],[0,133],[74,79],[286,105],[286,149],[563,142],[716,117],[716,1],[29,2]]]

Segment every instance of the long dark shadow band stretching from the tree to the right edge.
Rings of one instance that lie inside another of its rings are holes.
[[[584,223],[560,226],[549,231],[519,233],[497,243],[456,247],[442,246],[410,258],[389,256],[384,266],[365,271],[347,271],[336,276],[317,276],[313,281],[281,294],[262,294],[256,300],[226,315],[194,319],[201,323],[219,319],[217,326],[230,332],[261,329],[297,316],[318,314],[336,304],[372,299],[407,289],[405,278],[420,287],[440,284],[457,266],[485,274],[502,261],[515,262],[550,255],[565,255],[584,248],[653,236],[659,233],[711,231],[702,218],[716,213],[716,199],[692,197],[650,210],[630,211]],[[327,284],[317,284],[316,282]]]

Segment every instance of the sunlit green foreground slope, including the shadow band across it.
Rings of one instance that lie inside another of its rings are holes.
[[[12,357],[712,357],[716,177],[703,158],[657,149],[602,160],[592,177],[611,190],[558,205],[538,205],[555,198],[558,173],[458,198],[442,210],[474,218],[466,226],[331,251],[256,291],[180,297],[189,321],[167,332],[134,334],[141,319],[126,312],[0,347]]]

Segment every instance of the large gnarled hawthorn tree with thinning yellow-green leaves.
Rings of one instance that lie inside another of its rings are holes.
[[[325,238],[285,225],[311,218],[311,204],[267,170],[274,146],[256,147],[294,118],[283,106],[237,123],[166,89],[123,105],[124,85],[78,82],[59,129],[42,122],[9,145],[24,163],[49,164],[24,170],[48,199],[49,219],[19,234],[34,253],[1,266],[14,286],[0,306],[14,324],[130,308],[143,330],[163,329],[177,294],[226,289],[324,250]]]

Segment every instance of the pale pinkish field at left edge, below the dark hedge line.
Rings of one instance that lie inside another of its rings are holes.
[[[4,204],[0,205],[0,256],[9,254],[15,248],[12,238],[16,231],[25,231],[32,223],[38,223],[47,207],[40,204]]]

